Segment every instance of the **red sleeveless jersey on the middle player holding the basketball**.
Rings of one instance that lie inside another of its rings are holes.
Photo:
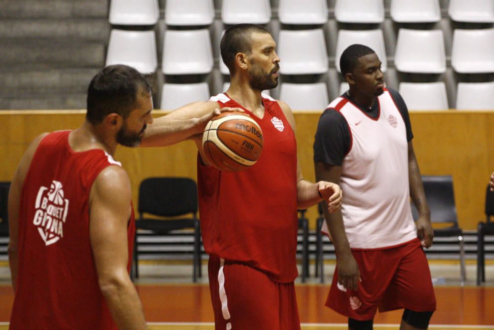
[[[226,94],[221,107],[242,108]],[[199,210],[206,253],[247,263],[280,283],[297,277],[297,145],[278,102],[263,94],[264,117],[244,109],[259,125],[259,160],[237,173],[198,161]]]

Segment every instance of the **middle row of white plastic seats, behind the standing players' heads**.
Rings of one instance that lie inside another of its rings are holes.
[[[361,43],[375,50],[387,69],[382,30],[339,30],[336,41],[335,67],[343,50]],[[324,32],[313,30],[282,30],[278,36],[278,54],[283,59],[282,74],[322,74],[328,71],[328,54]],[[106,65],[127,64],[143,73],[158,67],[154,31],[113,29],[110,35]],[[451,63],[457,73],[494,72],[494,29],[453,32]],[[209,30],[166,30],[162,71],[165,74],[205,74],[213,68],[213,52]],[[406,73],[444,73],[446,52],[442,30],[400,29],[394,54],[398,71]],[[220,71],[228,69],[220,61]]]

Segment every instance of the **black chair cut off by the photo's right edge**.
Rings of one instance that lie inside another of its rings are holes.
[[[485,214],[486,222],[479,222],[477,227],[477,285],[486,281],[484,236],[494,235],[494,222],[491,222],[491,217],[494,217],[494,192],[489,185],[486,189]]]

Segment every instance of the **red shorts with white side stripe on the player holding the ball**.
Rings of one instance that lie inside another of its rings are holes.
[[[216,330],[299,330],[295,286],[246,264],[209,257]]]

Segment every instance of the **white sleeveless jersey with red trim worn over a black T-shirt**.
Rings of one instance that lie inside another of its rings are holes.
[[[405,121],[389,91],[369,116],[345,97],[328,108],[346,119],[351,143],[341,165],[341,212],[352,249],[392,247],[417,237],[410,208]],[[327,227],[325,224],[325,230]]]

